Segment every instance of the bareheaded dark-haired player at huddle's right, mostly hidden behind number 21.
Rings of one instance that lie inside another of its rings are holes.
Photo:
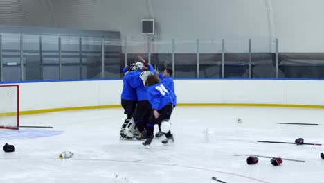
[[[167,87],[168,89],[171,90],[171,92],[173,92],[174,94],[174,103],[172,103],[173,107],[175,107],[177,105],[177,96],[175,95],[174,92],[174,82],[173,82],[173,78],[172,78],[172,74],[173,74],[173,70],[171,68],[165,68],[162,73],[156,73],[157,76],[159,76],[161,82],[163,83],[163,85],[165,87]],[[161,129],[159,128],[159,132],[156,133],[155,137],[161,137],[163,135],[163,132],[161,132]]]

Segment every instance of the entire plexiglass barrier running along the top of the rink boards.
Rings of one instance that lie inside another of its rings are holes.
[[[143,57],[175,78],[324,78],[324,53],[280,51],[279,40],[111,39],[0,34],[1,82],[123,78]]]

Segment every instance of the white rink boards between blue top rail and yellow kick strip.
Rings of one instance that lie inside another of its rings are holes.
[[[178,103],[323,105],[321,80],[174,80]],[[20,83],[20,109],[120,105],[122,80]]]

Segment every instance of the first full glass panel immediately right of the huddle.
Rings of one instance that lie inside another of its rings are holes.
[[[175,40],[174,69],[177,78],[197,77],[197,42]]]

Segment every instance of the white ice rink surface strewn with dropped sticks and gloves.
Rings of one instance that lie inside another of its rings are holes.
[[[236,119],[242,119],[237,123]],[[289,141],[324,143],[324,110],[268,107],[176,107],[172,114],[175,142],[154,139],[150,149],[140,141],[120,141],[122,109],[52,112],[21,116],[21,125],[50,125],[53,129],[0,130],[0,145],[15,145],[0,153],[0,182],[324,182],[323,146],[258,143]],[[204,130],[210,131],[210,139]],[[37,135],[35,135],[37,134]],[[59,159],[62,151],[75,155]],[[270,159],[246,164],[247,155]],[[241,156],[242,155],[242,156]]]

